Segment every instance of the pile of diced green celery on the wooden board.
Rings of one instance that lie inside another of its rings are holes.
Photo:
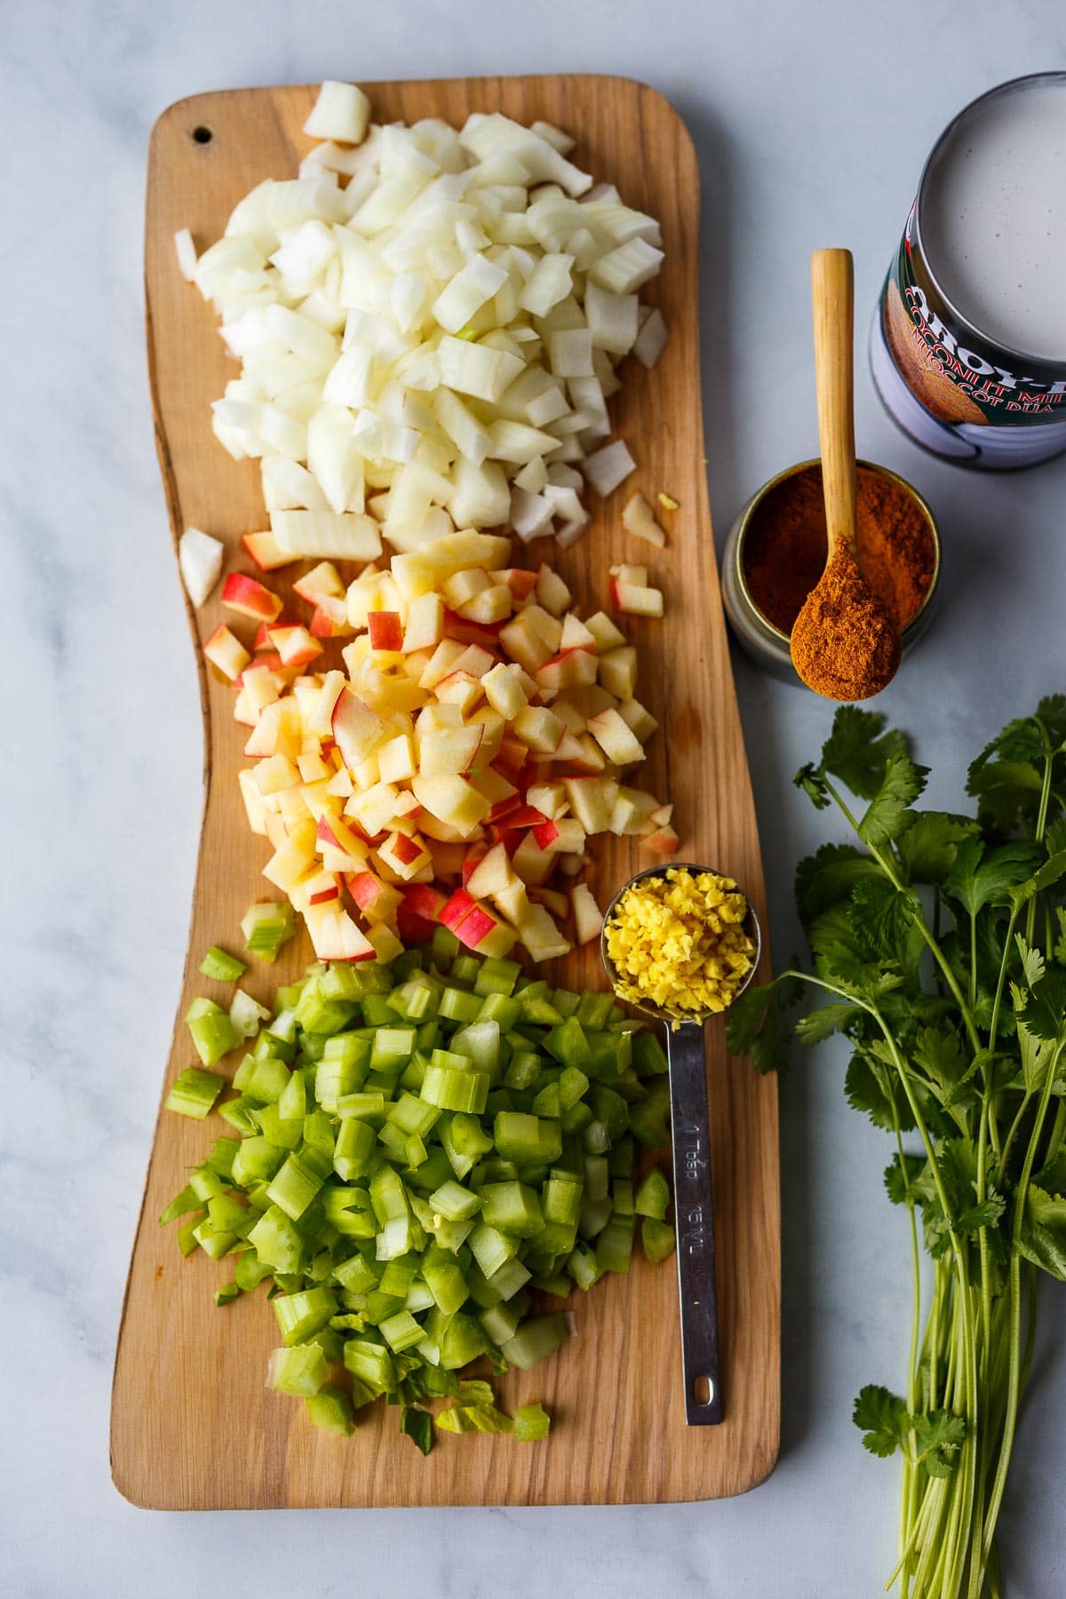
[[[216,950],[201,969],[238,967]],[[209,999],[187,1022],[205,1068],[238,1041]],[[318,1426],[347,1436],[385,1394],[428,1452],[424,1401],[451,1396],[446,1431],[542,1438],[539,1407],[511,1420],[457,1374],[551,1354],[567,1316],[535,1295],[628,1271],[638,1220],[649,1260],[671,1252],[666,1178],[652,1166],[634,1188],[636,1146],[668,1140],[665,1073],[612,995],[550,990],[438,927],[388,966],[313,966],[280,988],[219,1107],[238,1137],[160,1222],[182,1218],[182,1254],[233,1257],[217,1303],[273,1279],[267,1382]],[[168,1107],[206,1116],[225,1086],[190,1068]]]

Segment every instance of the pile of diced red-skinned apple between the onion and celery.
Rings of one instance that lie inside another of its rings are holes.
[[[205,654],[249,728],[240,787],[273,846],[264,875],[320,959],[387,959],[435,923],[481,955],[564,955],[603,921],[574,881],[590,836],[676,849],[671,806],[626,782],[657,728],[634,648],[603,611],[582,620],[548,566],[508,561],[508,539],[473,531],[347,590],[323,561],[294,585],[310,625],[259,579],[225,580],[256,632],[221,625]],[[329,638],[345,670],[308,672]]]

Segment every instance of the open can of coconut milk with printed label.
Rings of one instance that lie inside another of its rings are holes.
[[[940,136],[871,329],[905,433],[975,467],[1066,449],[1066,72],[989,90]]]

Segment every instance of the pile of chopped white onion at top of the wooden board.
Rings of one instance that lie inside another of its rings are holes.
[[[305,131],[299,177],[259,184],[201,256],[176,240],[241,363],[214,432],[261,461],[272,526],[312,513],[326,555],[379,528],[398,550],[497,526],[571,544],[585,484],[634,469],[607,398],[666,341],[638,294],[658,224],[547,123],[369,126],[363,91],[326,83]]]

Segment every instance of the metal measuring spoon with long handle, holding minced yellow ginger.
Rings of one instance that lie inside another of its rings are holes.
[[[687,860],[663,867],[649,867],[625,883],[607,907],[599,934],[599,958],[617,990],[619,974],[607,955],[607,926],[619,900],[644,878],[662,878],[668,871],[687,871],[698,876],[714,871],[713,867],[697,867]],[[714,873],[721,876],[721,873]],[[743,892],[743,891],[742,891]],[[737,999],[759,966],[762,932],[759,918],[748,905],[743,929],[754,943],[751,967]],[[711,1138],[706,1110],[706,1038],[705,1022],[681,1022],[671,1028],[673,1017],[646,1004],[633,1004],[642,1015],[666,1023],[666,1060],[670,1063],[670,1115],[674,1167],[674,1222],[678,1230],[678,1290],[681,1298],[681,1366],[684,1370],[684,1418],[689,1426],[713,1426],[722,1418],[722,1386],[718,1361],[718,1284],[714,1279],[714,1196],[711,1190]],[[718,1014],[718,1012],[716,1012]]]

